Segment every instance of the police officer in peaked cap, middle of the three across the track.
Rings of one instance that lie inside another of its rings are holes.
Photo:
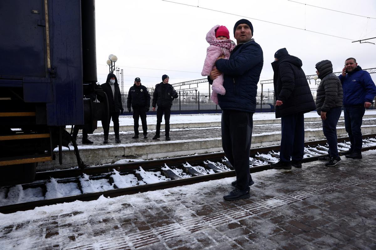
[[[150,108],[150,94],[144,85],[141,85],[141,80],[136,77],[135,83],[129,88],[127,107],[130,112],[130,107],[133,108],[133,121],[135,135],[133,139],[138,138],[138,120],[141,117],[142,129],[144,138],[147,138],[147,124],[146,124],[146,112]]]

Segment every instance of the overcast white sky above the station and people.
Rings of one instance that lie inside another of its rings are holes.
[[[204,77],[200,73],[209,46],[205,40],[206,33],[216,24],[225,25],[230,31],[230,39],[235,41],[233,25],[241,18],[252,22],[253,38],[264,52],[260,80],[273,79],[270,63],[274,60],[274,52],[284,47],[290,55],[303,61],[306,75],[315,74],[315,64],[325,59],[332,61],[334,72],[342,70],[344,60],[348,57],[355,57],[363,69],[376,67],[376,45],[352,43],[352,40],[376,37],[374,0],[296,0],[366,17],[288,0],[172,1],[176,3],[163,0],[96,0],[97,70],[100,83],[106,81],[106,60],[109,54],[117,55],[116,65],[124,70],[126,92],[133,85],[135,77],[141,78],[141,83],[147,87],[161,82],[163,74],[170,77],[170,84],[202,79]],[[368,41],[376,43],[376,39]],[[371,76],[375,81],[376,73]],[[201,83],[198,87],[200,92],[208,92],[208,83]],[[311,87],[314,87],[313,81]],[[272,84],[264,85],[264,91],[268,88],[273,89]],[[261,91],[260,85],[258,91]]]

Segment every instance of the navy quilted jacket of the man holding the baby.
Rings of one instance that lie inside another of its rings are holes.
[[[215,66],[224,74],[226,89],[224,96],[218,94],[222,110],[256,111],[257,83],[263,64],[262,49],[254,39],[238,44],[229,60],[217,60]]]

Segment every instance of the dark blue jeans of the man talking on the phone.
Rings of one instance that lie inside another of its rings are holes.
[[[362,149],[362,121],[365,112],[364,105],[344,106],[345,128],[349,134],[351,150],[360,153]]]

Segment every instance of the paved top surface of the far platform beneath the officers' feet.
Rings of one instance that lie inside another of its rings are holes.
[[[305,130],[311,130],[311,129],[321,129],[322,130],[322,123],[319,122],[306,122],[304,123]],[[369,126],[369,125],[376,125],[375,119],[365,119],[363,120],[362,126]],[[344,121],[338,121],[337,127],[344,127]],[[132,136],[134,135],[134,132],[120,132],[120,139],[121,144],[132,144],[132,143],[138,143],[138,142],[158,142],[158,141],[164,141],[165,139],[165,133],[164,130],[161,130],[161,138],[157,140],[153,140],[153,136],[155,135],[155,130],[149,130],[147,139],[143,138],[143,132],[141,128],[141,124],[139,126],[139,138],[138,139],[132,139]],[[259,135],[259,134],[269,134],[271,132],[279,132],[281,131],[281,125],[280,124],[268,124],[267,126],[265,124],[255,124],[253,125],[253,133],[252,135]],[[218,138],[221,137],[221,127],[208,127],[208,128],[187,128],[187,129],[171,129],[170,130],[170,138],[171,141],[177,141],[177,140],[189,140],[189,139],[208,139],[208,138]],[[94,144],[91,144],[90,146],[95,145],[116,145],[115,143],[115,134],[112,132],[109,133],[109,144],[103,144],[103,133],[94,133],[92,135],[88,135],[88,139],[93,141]],[[82,135],[77,136],[77,145],[82,145]],[[85,147],[86,145],[82,145]]]

